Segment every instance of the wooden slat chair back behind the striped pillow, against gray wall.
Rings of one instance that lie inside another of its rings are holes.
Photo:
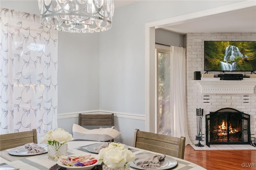
[[[114,126],[114,113],[112,114],[79,114],[78,125],[80,126]],[[114,142],[114,139],[111,140]]]

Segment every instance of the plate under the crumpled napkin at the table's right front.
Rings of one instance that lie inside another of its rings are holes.
[[[178,164],[177,160],[166,155],[164,158],[164,161],[160,162],[159,168],[156,168],[156,169],[140,168],[140,166],[136,165],[138,162],[143,161],[144,159],[146,159],[149,156],[152,156],[152,154],[135,155],[135,161],[129,162],[129,164],[131,167],[141,169],[141,170],[166,170],[166,169],[173,168],[174,166],[176,166]]]

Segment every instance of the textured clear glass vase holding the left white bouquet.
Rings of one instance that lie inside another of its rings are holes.
[[[60,158],[68,156],[68,144],[48,145],[48,159],[58,161]]]

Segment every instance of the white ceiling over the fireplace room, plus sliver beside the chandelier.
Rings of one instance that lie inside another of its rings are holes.
[[[115,8],[134,2],[136,0],[114,0]],[[187,20],[182,24],[162,27],[162,29],[179,34],[198,32],[254,33],[256,32],[256,6]]]

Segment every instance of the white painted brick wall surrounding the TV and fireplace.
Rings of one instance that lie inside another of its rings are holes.
[[[188,33],[185,35],[186,47],[186,78],[187,78],[187,110],[188,110],[188,134],[193,144],[196,139],[196,109],[204,109],[204,115],[225,107],[230,107],[250,115],[250,128],[252,137],[256,137],[256,89],[254,94],[209,94],[208,101],[204,103],[204,95],[201,94],[201,87],[193,82],[194,71],[204,73],[204,41],[256,41],[256,33]],[[220,72],[212,71],[215,75]],[[243,72],[244,73],[244,72]],[[250,74],[250,72],[246,72]],[[247,95],[248,97],[244,97]],[[248,103],[244,103],[244,99]],[[205,116],[202,120],[202,132],[205,140]],[[205,141],[202,142],[205,144]]]

